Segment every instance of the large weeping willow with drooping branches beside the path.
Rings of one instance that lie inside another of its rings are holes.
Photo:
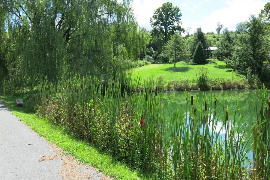
[[[129,1],[0,0],[0,5],[1,32],[9,40],[6,86],[13,92],[62,75],[125,76],[149,41]]]

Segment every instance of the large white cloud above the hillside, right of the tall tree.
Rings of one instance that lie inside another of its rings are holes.
[[[183,22],[183,27],[187,29],[190,26],[192,33],[200,26],[204,32],[215,32],[217,22],[221,22],[224,28],[234,30],[237,23],[246,21],[251,14],[258,15],[265,2],[261,0],[228,0],[226,4],[228,7],[212,11],[211,15],[205,16],[199,22],[191,24]]]

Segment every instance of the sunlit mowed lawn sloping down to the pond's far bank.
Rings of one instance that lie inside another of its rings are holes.
[[[225,62],[218,60],[215,60],[215,62],[217,64],[184,65],[184,62],[180,61],[176,63],[176,67],[173,67],[173,64],[148,64],[134,68],[132,78],[136,79],[137,76],[140,76],[141,80],[144,80],[152,77],[156,79],[158,76],[163,76],[164,82],[186,78],[196,79],[196,73],[202,67],[207,68],[208,75],[213,78],[239,79],[241,77],[239,73],[227,68]]]

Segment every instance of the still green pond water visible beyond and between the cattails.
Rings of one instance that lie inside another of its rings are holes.
[[[164,98],[163,98],[163,107],[168,110],[168,114],[170,110],[173,110],[174,108],[182,109],[183,106],[187,105],[187,101],[184,95],[183,91],[178,92],[164,92]],[[193,95],[194,99],[196,98],[198,92],[197,91],[188,91],[188,95]],[[204,96],[203,96],[204,94]],[[255,123],[255,113],[253,110],[253,97],[256,97],[257,90],[220,90],[220,91],[200,91],[198,96],[199,98],[202,98],[205,96],[211,97],[219,97],[220,102],[217,106],[217,113],[222,114],[223,113],[223,107],[225,109],[228,108],[229,115],[233,114],[235,111],[235,108],[237,106],[237,109],[244,107],[243,109],[239,110],[236,114],[236,118],[238,119],[239,115],[241,114],[242,117],[242,125],[240,126],[241,131],[244,130],[250,130],[252,126]],[[247,98],[250,102],[250,108],[248,106]],[[224,104],[224,105],[223,105]],[[165,111],[166,113],[166,111]],[[231,119],[229,117],[229,119]],[[222,122],[217,123],[217,129],[218,132],[222,128]],[[224,136],[226,132],[224,132],[223,129],[220,131],[220,136]],[[251,135],[251,132],[250,134]],[[249,136],[248,135],[248,136]],[[248,147],[252,145],[252,137],[248,142]],[[247,157],[252,160],[252,149],[247,149]]]

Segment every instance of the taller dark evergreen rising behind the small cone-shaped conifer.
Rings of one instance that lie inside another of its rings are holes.
[[[206,53],[206,49],[208,49],[209,43],[206,40],[205,35],[202,32],[201,27],[197,28],[196,32],[193,35],[193,39],[192,39],[192,41],[190,43],[190,50],[191,50],[192,54],[194,53],[194,51],[195,51],[195,49],[196,49],[199,42],[202,44],[203,50]]]

